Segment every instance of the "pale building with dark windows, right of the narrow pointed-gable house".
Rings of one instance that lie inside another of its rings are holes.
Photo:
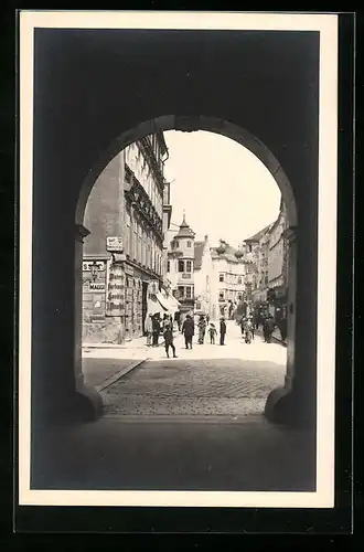
[[[212,247],[214,278],[217,288],[218,316],[231,317],[246,291],[246,263],[240,252],[223,240]]]

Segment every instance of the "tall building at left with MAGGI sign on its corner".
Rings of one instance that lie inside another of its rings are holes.
[[[151,286],[164,276],[171,208],[161,132],[131,144],[100,173],[84,225],[83,340],[122,343],[143,335]],[[167,198],[165,198],[167,185]],[[167,214],[167,216],[165,216]]]

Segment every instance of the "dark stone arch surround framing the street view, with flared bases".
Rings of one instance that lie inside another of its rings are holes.
[[[271,151],[255,136],[246,129],[236,126],[227,120],[210,116],[161,116],[139,124],[132,129],[121,134],[103,152],[100,158],[90,169],[87,178],[84,180],[75,213],[76,224],[76,245],[75,245],[75,380],[77,395],[82,405],[86,407],[87,418],[97,418],[101,414],[101,400],[95,390],[86,386],[82,374],[82,261],[83,261],[83,240],[88,234],[84,227],[84,214],[88,195],[104,168],[130,144],[156,130],[179,130],[183,132],[193,132],[205,130],[220,134],[226,138],[240,144],[250,150],[269,170],[270,174],[280,189],[282,199],[287,209],[289,244],[289,291],[288,291],[288,328],[287,328],[287,365],[285,386],[274,390],[269,395],[265,413],[267,417],[277,422],[287,421],[286,403],[289,403],[289,396],[292,391],[295,378],[296,361],[296,296],[297,296],[297,251],[296,251],[296,227],[298,225],[298,214],[296,199],[292,187],[285,173],[283,168],[271,153]],[[291,420],[292,421],[292,420]]]

